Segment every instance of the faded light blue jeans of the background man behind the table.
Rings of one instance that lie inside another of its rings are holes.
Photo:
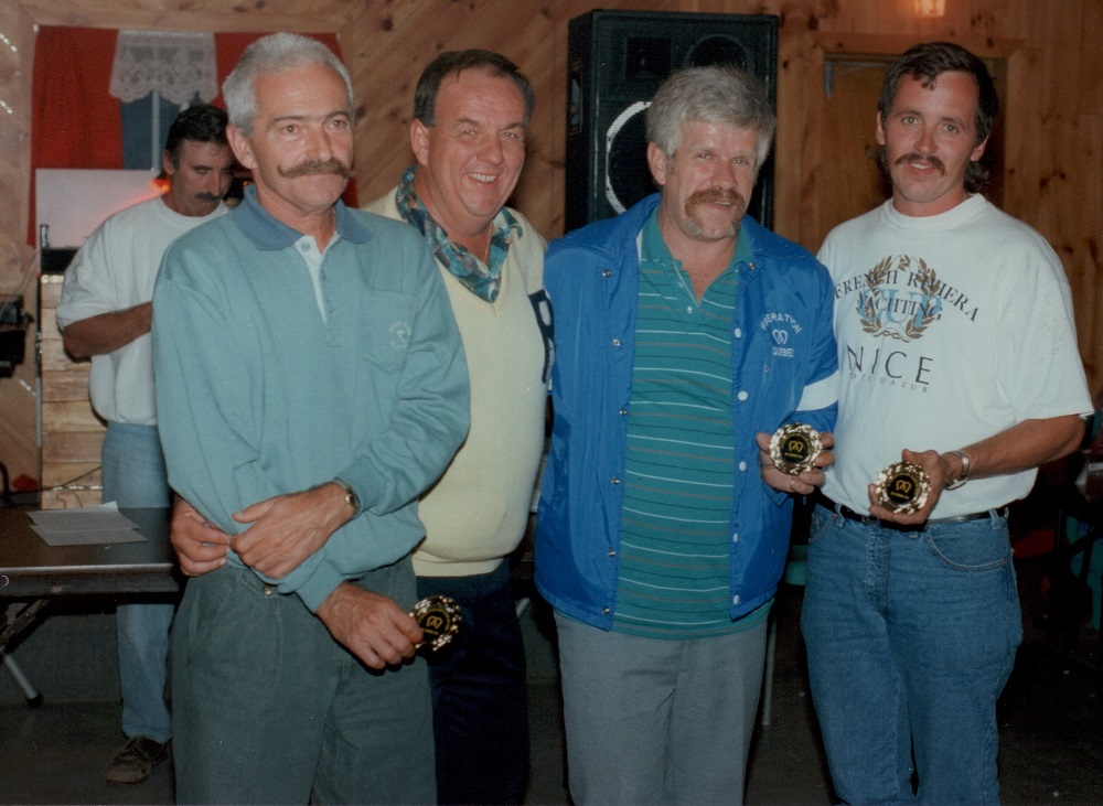
[[[157,426],[109,422],[101,453],[104,503],[120,507],[170,506],[172,493]],[[167,742],[172,719],[164,702],[172,603],[120,604],[119,686],[122,732]]]

